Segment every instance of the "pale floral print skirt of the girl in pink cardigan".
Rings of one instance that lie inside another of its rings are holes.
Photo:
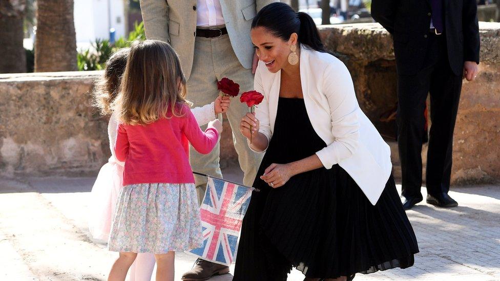
[[[164,254],[201,246],[193,183],[132,184],[121,189],[111,225],[110,251]]]

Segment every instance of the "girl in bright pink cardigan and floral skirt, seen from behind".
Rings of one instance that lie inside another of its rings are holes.
[[[114,151],[125,166],[108,242],[120,254],[109,280],[124,280],[142,252],[155,254],[156,280],[173,280],[174,252],[202,243],[189,143],[210,153],[222,124],[200,130],[184,99],[179,58],[165,42],[135,42],[122,79]]]

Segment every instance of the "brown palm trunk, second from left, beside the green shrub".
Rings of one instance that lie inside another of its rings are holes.
[[[76,71],[73,0],[38,0],[35,72]]]

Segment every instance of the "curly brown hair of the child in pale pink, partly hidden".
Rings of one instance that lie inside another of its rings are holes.
[[[106,61],[104,75],[95,81],[92,105],[99,109],[101,115],[113,113],[111,104],[120,91],[121,77],[127,65],[129,52],[130,48],[122,48],[114,52]]]

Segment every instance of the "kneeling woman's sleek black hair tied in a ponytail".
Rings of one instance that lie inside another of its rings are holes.
[[[256,27],[263,27],[284,41],[290,39],[290,35],[295,32],[300,44],[318,52],[329,53],[321,41],[313,18],[303,12],[296,13],[285,3],[276,2],[262,8],[252,21],[252,28]]]

